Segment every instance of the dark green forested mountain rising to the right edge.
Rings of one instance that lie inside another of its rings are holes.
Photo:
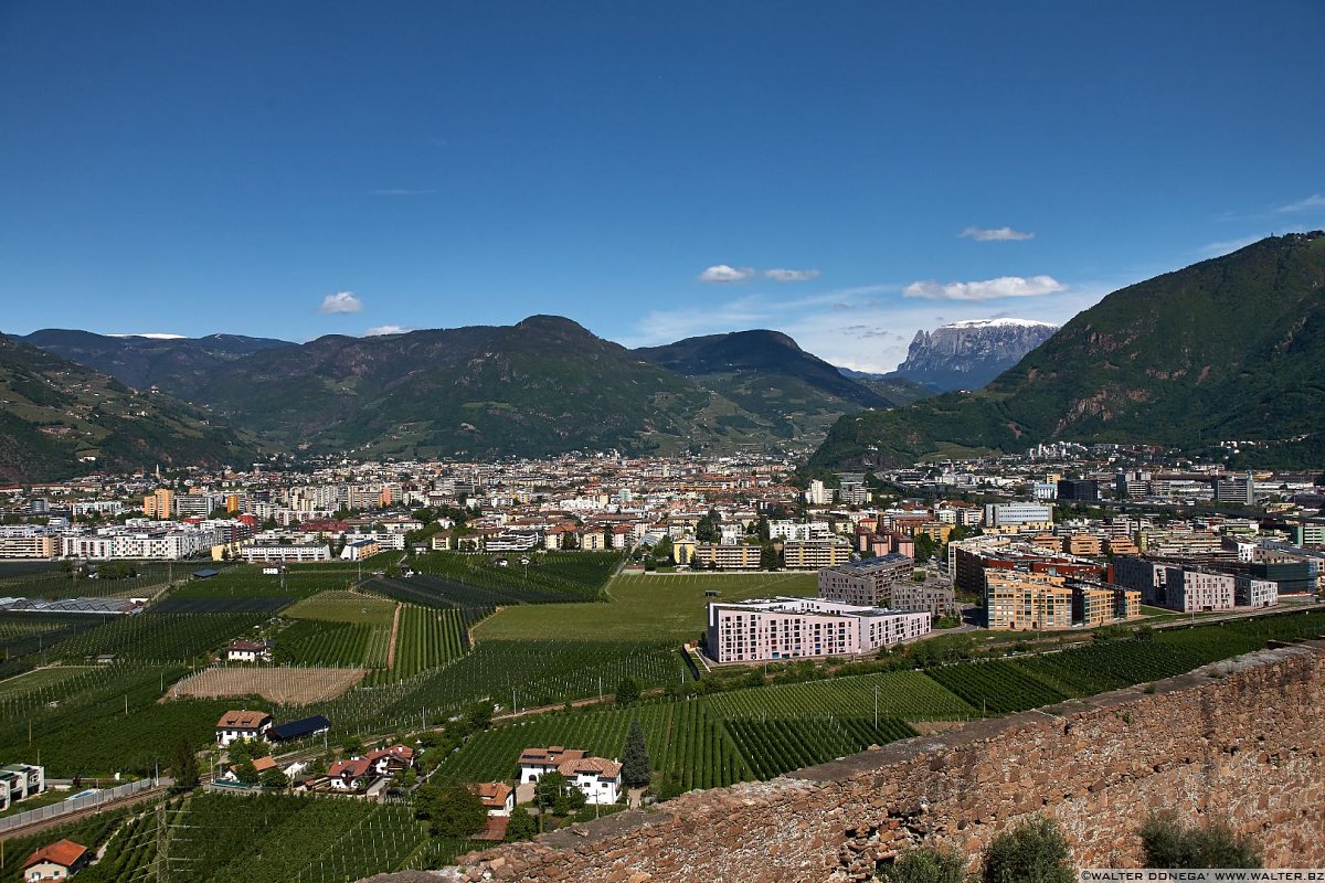
[[[984,389],[841,417],[812,465],[886,466],[1048,440],[1273,442],[1325,434],[1325,233],[1269,237],[1114,291]]]

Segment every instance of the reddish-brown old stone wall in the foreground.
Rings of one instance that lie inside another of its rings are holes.
[[[1034,813],[1079,867],[1137,866],[1151,808],[1251,834],[1269,867],[1325,867],[1325,643],[694,792],[461,859],[453,880],[867,879],[910,843],[969,855]]]

